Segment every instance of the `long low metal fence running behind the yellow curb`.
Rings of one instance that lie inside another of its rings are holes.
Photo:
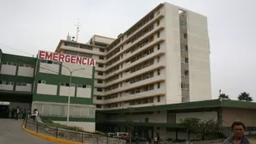
[[[32,130],[36,133],[67,141],[77,141],[90,144],[126,144],[126,141],[122,139],[110,138],[104,135],[93,135],[86,132],[60,129],[58,127],[49,126],[46,123],[38,123],[28,119],[25,120],[24,126],[26,129]]]

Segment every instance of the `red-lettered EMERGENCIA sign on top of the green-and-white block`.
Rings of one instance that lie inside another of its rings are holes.
[[[89,57],[78,57],[75,55],[65,55],[56,52],[39,51],[38,58],[57,62],[76,63],[82,65],[95,66],[95,59]]]

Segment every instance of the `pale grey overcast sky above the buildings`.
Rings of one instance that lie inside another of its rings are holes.
[[[256,100],[254,0],[0,0],[0,48],[24,56],[54,51],[59,39],[75,35],[78,18],[79,42],[116,38],[164,2],[208,17],[213,99],[222,89],[231,99],[245,91]]]

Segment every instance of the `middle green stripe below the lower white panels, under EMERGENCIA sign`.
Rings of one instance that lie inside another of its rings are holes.
[[[53,103],[67,103],[68,97],[67,96],[56,96],[56,95],[46,95],[46,94],[34,94],[33,96],[34,101],[41,101],[41,102],[53,102]],[[71,104],[78,104],[78,105],[92,105],[93,99],[89,98],[78,98],[78,97],[71,97],[70,103]]]

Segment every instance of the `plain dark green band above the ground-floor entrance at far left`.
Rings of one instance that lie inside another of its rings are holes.
[[[9,92],[0,90],[0,101],[19,102],[19,103],[31,103],[32,93],[26,92]]]

